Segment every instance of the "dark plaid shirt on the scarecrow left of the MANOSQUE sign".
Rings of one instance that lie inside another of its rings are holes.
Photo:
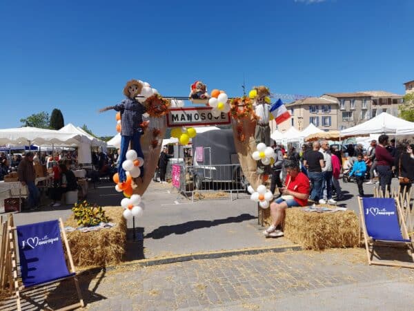
[[[121,135],[132,136],[137,131],[142,131],[142,115],[145,113],[145,107],[137,100],[126,98],[114,108],[121,111]]]

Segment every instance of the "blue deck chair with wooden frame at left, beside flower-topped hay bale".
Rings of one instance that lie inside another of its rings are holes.
[[[66,238],[63,222],[59,220],[46,221],[13,227],[17,231],[17,248],[19,249],[22,286],[16,288],[17,308],[20,308],[20,290],[44,286],[50,283],[73,278],[79,296],[79,303],[68,305],[64,310],[83,307],[81,290],[77,280],[72,255]],[[13,235],[10,235],[12,239]],[[69,267],[63,253],[62,239],[66,246]],[[17,284],[17,273],[14,276]]]

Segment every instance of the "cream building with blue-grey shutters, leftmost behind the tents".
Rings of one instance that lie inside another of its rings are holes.
[[[303,131],[311,123],[324,131],[337,129],[338,105],[336,100],[307,97],[286,104],[286,109],[290,112],[291,117],[290,120],[277,126],[277,129],[282,133],[292,126],[299,131]],[[274,128],[275,124],[271,124],[270,129],[273,130]]]

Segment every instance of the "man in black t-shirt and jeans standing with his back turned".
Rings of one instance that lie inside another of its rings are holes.
[[[313,142],[312,147],[313,149],[304,155],[304,167],[308,170],[308,178],[312,182],[310,199],[319,204],[325,204],[326,202],[321,197],[322,168],[325,167],[324,155],[319,152],[321,147],[319,142]]]

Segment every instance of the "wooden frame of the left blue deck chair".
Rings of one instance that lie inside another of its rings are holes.
[[[63,311],[63,310],[74,310],[76,308],[83,308],[85,306],[85,304],[83,303],[83,298],[82,298],[82,294],[81,294],[81,288],[79,287],[79,281],[77,279],[77,274],[75,271],[75,265],[73,264],[73,259],[72,259],[72,254],[70,253],[70,248],[69,248],[69,243],[68,243],[68,238],[66,237],[66,232],[65,229],[63,227],[63,221],[61,218],[59,218],[59,229],[61,232],[61,236],[62,239],[64,241],[65,247],[66,247],[66,254],[68,256],[68,261],[66,262],[66,265],[68,265],[69,263],[69,272],[70,273],[75,273],[72,276],[67,276],[66,278],[62,278],[59,280],[55,280],[55,281],[50,281],[47,283],[42,283],[39,285],[34,285],[34,286],[30,286],[30,288],[26,288],[24,285],[19,286],[19,280],[17,278],[17,260],[16,260],[16,249],[17,249],[17,244],[16,244],[16,240],[14,238],[14,232],[16,231],[17,227],[14,226],[13,223],[13,218],[12,215],[10,215],[9,221],[8,221],[8,239],[9,239],[9,245],[10,245],[10,265],[8,265],[9,271],[10,271],[10,276],[12,276],[12,283],[10,283],[10,292],[12,294],[12,292],[14,292],[14,294],[16,295],[16,303],[17,303],[17,310],[21,310],[21,292],[26,291],[26,290],[32,290],[33,288],[39,288],[41,286],[45,286],[45,285],[50,285],[52,283],[57,283],[66,279],[73,279],[75,281],[75,288],[77,290],[77,294],[79,297],[79,303],[74,303],[72,305],[68,305],[64,308],[60,308],[58,310]]]

